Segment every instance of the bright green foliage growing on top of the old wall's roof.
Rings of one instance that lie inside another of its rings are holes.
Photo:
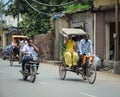
[[[72,13],[78,10],[88,9],[90,5],[72,4],[65,10],[66,13]]]

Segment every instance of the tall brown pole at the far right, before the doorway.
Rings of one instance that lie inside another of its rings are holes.
[[[119,0],[115,0],[115,51],[116,51],[116,61],[119,60]]]

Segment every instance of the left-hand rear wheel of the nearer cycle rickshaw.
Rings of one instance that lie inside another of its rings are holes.
[[[62,62],[60,65],[59,65],[59,76],[60,76],[60,79],[61,80],[64,80],[65,77],[66,77],[66,66],[65,66],[65,63]]]

